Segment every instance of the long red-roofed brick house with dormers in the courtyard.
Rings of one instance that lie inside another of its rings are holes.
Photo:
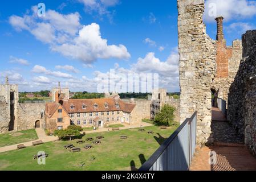
[[[46,129],[66,129],[69,125],[103,127],[109,123],[128,123],[133,119],[135,104],[120,98],[65,99],[55,93],[55,103],[46,104]]]

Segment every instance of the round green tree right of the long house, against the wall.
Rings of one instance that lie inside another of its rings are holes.
[[[156,115],[155,122],[158,125],[163,126],[174,126],[177,125],[177,122],[174,121],[174,112],[176,111],[176,108],[170,105],[164,105],[162,106],[161,111]]]

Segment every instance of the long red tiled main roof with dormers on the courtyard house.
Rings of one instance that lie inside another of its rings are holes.
[[[107,104],[108,107],[105,107],[105,104]],[[119,107],[116,107],[116,104],[118,104]],[[83,109],[83,105],[86,105],[86,109]],[[97,105],[97,108],[95,108],[94,105]],[[131,113],[135,107],[133,104],[126,104],[122,100],[115,98],[70,99],[64,100],[62,106],[67,113],[88,113],[119,110]],[[70,106],[74,106],[74,109],[71,109]]]

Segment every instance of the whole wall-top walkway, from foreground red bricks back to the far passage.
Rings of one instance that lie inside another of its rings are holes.
[[[190,171],[256,171],[256,158],[216,107],[213,107],[212,119],[214,146],[196,151]],[[211,165],[209,161],[214,159],[214,152],[216,163]],[[211,154],[213,156],[210,158]]]

